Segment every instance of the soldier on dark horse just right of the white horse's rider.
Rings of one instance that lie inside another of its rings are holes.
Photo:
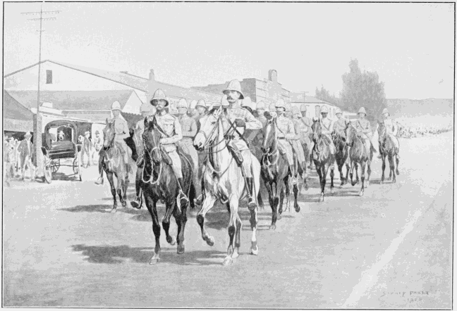
[[[277,133],[279,151],[286,155],[288,166],[292,173],[291,182],[295,185],[297,184],[297,167],[295,167],[295,162],[293,160],[291,140],[295,139],[297,133],[295,133],[295,127],[293,126],[292,120],[285,115],[286,103],[284,103],[284,99],[278,99],[274,107],[276,108],[276,113],[267,113],[267,118],[271,119],[277,115],[276,126],[279,130]]]

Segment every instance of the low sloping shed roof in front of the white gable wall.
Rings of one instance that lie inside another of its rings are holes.
[[[132,89],[109,91],[40,91],[39,101],[48,101],[58,110],[106,110],[114,101],[126,105]],[[37,91],[8,91],[8,93],[26,108],[37,106]]]

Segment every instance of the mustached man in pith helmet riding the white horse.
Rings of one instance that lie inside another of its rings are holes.
[[[231,140],[228,146],[232,152],[237,153],[238,150],[242,156],[243,165],[241,165],[241,171],[245,178],[246,190],[248,191],[248,208],[255,208],[256,204],[252,199],[253,180],[251,157],[253,155],[243,138],[243,133],[245,129],[262,129],[262,122],[254,118],[248,110],[240,107],[239,100],[244,99],[244,95],[238,80],[231,80],[223,93],[226,94],[227,101],[229,102],[229,106],[224,108],[226,118],[222,119],[224,131],[227,131],[231,127],[227,119],[235,126],[235,129],[229,132]]]

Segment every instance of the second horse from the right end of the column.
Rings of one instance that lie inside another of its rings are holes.
[[[353,127],[351,122],[348,122],[345,130],[346,134],[346,144],[350,147],[349,149],[349,158],[351,160],[351,184],[354,186],[353,182],[353,170],[355,167],[355,173],[357,174],[357,165],[360,164],[360,179],[362,179],[362,189],[360,189],[359,196],[363,196],[365,189],[365,167],[367,167],[367,186],[370,184],[370,174],[371,174],[371,161],[373,159],[373,148],[366,150],[365,144],[363,144],[362,139],[357,134],[357,130]]]

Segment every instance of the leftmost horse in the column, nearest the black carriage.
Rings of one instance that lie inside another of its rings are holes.
[[[116,212],[117,210],[117,201],[116,201],[116,186],[114,186],[113,174],[117,179],[117,194],[119,196],[119,201],[121,201],[122,206],[125,208],[127,205],[127,187],[128,187],[128,173],[130,172],[130,165],[124,163],[124,158],[122,155],[122,147],[116,144],[114,140],[116,137],[116,132],[114,131],[114,122],[109,122],[106,119],[106,126],[103,129],[103,148],[104,155],[102,159],[102,167],[106,172],[106,177],[108,178],[109,184],[111,185],[111,194],[113,195],[114,205],[111,212]],[[130,149],[128,149],[128,156],[130,157]]]

